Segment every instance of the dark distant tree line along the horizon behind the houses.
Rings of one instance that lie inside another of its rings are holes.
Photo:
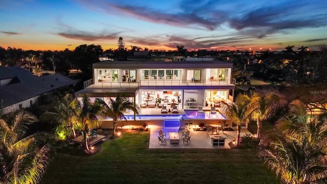
[[[327,46],[322,44],[319,51],[308,51],[307,47],[300,47],[293,51],[294,45],[288,45],[279,53],[270,50],[255,53],[240,50],[198,50],[188,51],[184,45],[177,45],[174,51],[158,51],[130,45],[125,47],[122,37],[118,40],[118,49],[103,50],[101,45],[82,44],[73,51],[24,51],[8,47],[0,47],[0,63],[7,66],[25,66],[41,68],[42,70],[66,74],[69,69],[78,69],[83,72],[79,78],[88,80],[92,77],[92,63],[99,62],[100,56],[109,57],[116,61],[126,61],[133,57],[135,52],[147,51],[148,55],[183,56],[186,57],[213,57],[221,62],[232,62],[233,78],[238,84],[250,84],[249,77],[254,77],[278,85],[307,85],[324,83],[327,80]]]

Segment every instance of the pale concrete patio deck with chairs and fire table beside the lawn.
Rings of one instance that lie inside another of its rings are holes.
[[[158,143],[158,131],[162,130],[163,132],[166,132],[167,137],[167,143]],[[237,131],[224,131],[224,133],[220,133],[220,135],[227,136],[227,139],[225,140],[225,146],[224,147],[212,147],[211,145],[211,138],[209,137],[209,134],[207,134],[206,131],[193,131],[190,129],[191,133],[191,143],[187,144],[184,143],[183,140],[180,138],[179,144],[171,144],[169,141],[169,132],[178,132],[179,137],[181,137],[182,132],[186,130],[184,129],[164,129],[164,128],[151,128],[150,130],[150,141],[149,141],[149,149],[162,149],[162,148],[192,148],[192,149],[230,149],[228,143],[235,140],[235,137],[237,135]],[[245,133],[250,133],[246,128],[241,129],[241,136],[244,136]],[[251,133],[250,133],[251,134]],[[251,134],[252,135],[252,134]],[[253,136],[253,135],[252,135]]]

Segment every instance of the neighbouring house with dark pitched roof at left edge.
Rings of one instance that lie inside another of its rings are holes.
[[[74,83],[61,74],[38,77],[18,66],[0,66],[0,108],[7,113],[42,105],[53,91]]]

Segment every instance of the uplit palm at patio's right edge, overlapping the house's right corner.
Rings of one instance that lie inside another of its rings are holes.
[[[239,95],[235,103],[223,102],[222,111],[231,119],[232,122],[237,124],[237,145],[240,145],[241,125],[248,121],[251,116],[249,104],[251,99],[247,95]]]

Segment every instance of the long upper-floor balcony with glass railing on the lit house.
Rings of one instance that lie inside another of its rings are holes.
[[[90,79],[84,82],[84,88],[95,89],[119,89],[119,88],[138,88],[140,86],[235,86],[235,79],[225,81],[210,80],[141,80],[135,83],[126,82],[96,82]]]

